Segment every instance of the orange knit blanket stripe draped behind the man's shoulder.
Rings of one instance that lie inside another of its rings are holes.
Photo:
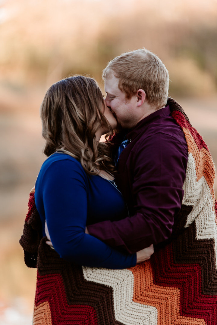
[[[215,178],[215,169],[212,161],[212,157],[210,152],[206,148],[198,149],[197,144],[191,134],[191,132],[185,128],[183,128],[183,132],[185,135],[185,139],[188,145],[188,151],[192,153],[195,164],[196,164],[196,174],[197,181],[204,176],[207,184],[210,188],[210,193],[213,198],[213,210],[214,210],[214,178]],[[205,166],[205,168],[204,168]]]

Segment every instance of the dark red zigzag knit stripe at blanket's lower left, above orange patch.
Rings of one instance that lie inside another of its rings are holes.
[[[97,325],[96,311],[88,305],[69,305],[60,274],[37,276],[35,305],[48,302],[54,325]]]

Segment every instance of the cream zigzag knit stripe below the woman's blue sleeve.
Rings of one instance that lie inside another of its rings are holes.
[[[115,319],[126,325],[157,325],[157,309],[133,302],[134,277],[130,270],[83,266],[84,278],[113,288]]]

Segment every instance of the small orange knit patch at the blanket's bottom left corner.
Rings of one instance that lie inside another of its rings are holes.
[[[52,325],[50,306],[47,301],[34,305],[33,325]]]

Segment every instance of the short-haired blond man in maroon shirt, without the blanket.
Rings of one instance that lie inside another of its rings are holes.
[[[109,62],[103,78],[106,104],[129,142],[118,158],[116,181],[130,217],[88,231],[135,253],[171,235],[183,199],[187,144],[167,105],[169,73],[156,55],[146,49],[124,53]]]

